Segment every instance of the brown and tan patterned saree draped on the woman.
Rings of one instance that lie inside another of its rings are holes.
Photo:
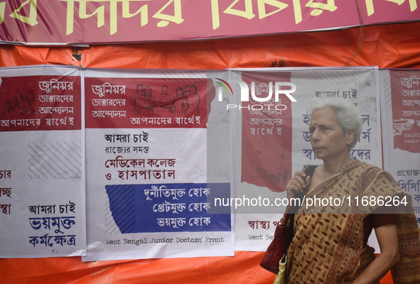
[[[392,271],[394,281],[420,284],[417,279],[420,277],[419,226],[411,197],[389,173],[358,160],[338,170],[305,196],[295,215],[287,283],[343,283],[362,273],[375,259],[374,250],[363,247],[363,219],[381,205],[369,201],[386,196],[405,197],[407,205],[392,210],[410,213],[395,214],[402,258]],[[368,197],[366,206],[361,203],[363,197]],[[406,268],[407,265],[413,269]],[[404,267],[412,274],[409,278],[404,276],[408,273],[402,270]]]

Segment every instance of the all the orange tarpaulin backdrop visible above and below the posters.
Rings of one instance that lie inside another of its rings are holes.
[[[48,64],[85,68],[212,70],[347,64],[419,68],[420,23],[247,38],[92,45],[87,48],[1,45],[0,64],[1,67]],[[0,259],[0,283],[272,283],[274,274],[259,267],[263,254],[236,251],[233,257],[94,263],[82,263],[80,257],[8,258]],[[392,283],[390,275],[381,283]]]

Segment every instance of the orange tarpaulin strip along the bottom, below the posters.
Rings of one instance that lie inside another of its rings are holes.
[[[232,257],[166,258],[83,263],[80,257],[0,260],[0,283],[271,284],[275,275],[259,266],[263,252]],[[391,284],[388,273],[381,284]]]

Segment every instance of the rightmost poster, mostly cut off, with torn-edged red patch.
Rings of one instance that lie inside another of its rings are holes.
[[[412,197],[420,224],[420,72],[383,70],[384,169]]]

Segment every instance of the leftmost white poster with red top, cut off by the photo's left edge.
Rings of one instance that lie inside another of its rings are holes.
[[[80,71],[12,67],[0,77],[0,257],[84,256]]]

